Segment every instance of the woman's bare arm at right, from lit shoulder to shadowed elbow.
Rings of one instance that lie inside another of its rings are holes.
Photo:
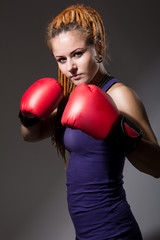
[[[155,178],[160,177],[160,146],[150,126],[145,108],[136,93],[116,84],[108,94],[115,101],[119,111],[135,123],[143,132],[137,148],[126,157],[140,171]]]

